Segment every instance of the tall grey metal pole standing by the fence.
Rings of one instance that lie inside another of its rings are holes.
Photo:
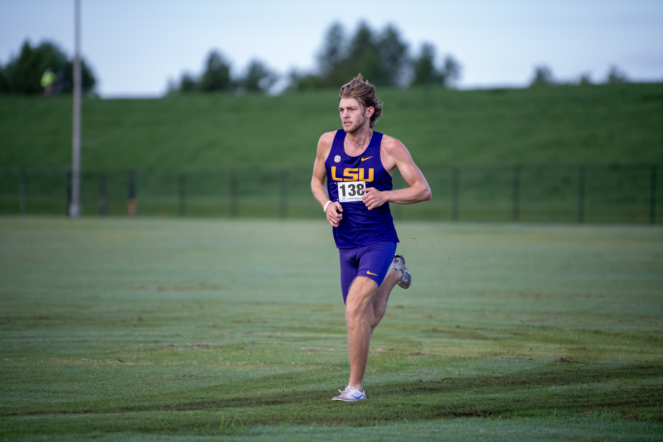
[[[81,2],[74,0],[74,133],[72,137],[72,202],[69,216],[81,214]]]

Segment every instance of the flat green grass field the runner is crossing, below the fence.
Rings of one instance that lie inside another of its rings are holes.
[[[663,228],[396,228],[339,404],[324,221],[0,217],[0,438],[663,440]]]

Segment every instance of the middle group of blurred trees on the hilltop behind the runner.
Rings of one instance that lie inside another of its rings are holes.
[[[325,34],[316,70],[293,70],[287,76],[286,90],[339,87],[359,72],[378,86],[438,84],[451,87],[460,78],[461,66],[452,56],[446,56],[438,65],[435,52],[432,44],[424,43],[420,54],[413,58],[408,44],[392,25],[375,32],[366,23],[360,23],[354,35],[347,38],[342,25],[335,23]],[[170,93],[265,92],[277,80],[276,72],[260,60],[251,61],[243,76],[233,78],[230,62],[213,50],[200,76],[183,74],[178,82],[171,82],[168,89]]]

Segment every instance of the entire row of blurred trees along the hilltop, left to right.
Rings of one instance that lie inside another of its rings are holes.
[[[73,89],[73,60],[56,44],[41,42],[31,46],[26,40],[21,51],[0,65],[0,94],[71,93]],[[93,93],[95,76],[85,60],[81,62],[84,93]],[[439,60],[431,43],[420,46],[417,54],[410,48],[393,25],[377,32],[366,23],[360,23],[353,34],[347,36],[339,23],[328,28],[322,48],[318,52],[317,66],[312,72],[292,70],[286,80],[286,91],[337,88],[357,74],[377,86],[408,87],[440,85],[453,87],[461,76],[461,65],[451,55]],[[182,74],[169,82],[168,93],[194,92],[253,92],[265,93],[279,80],[275,70],[261,60],[253,59],[240,76],[233,75],[232,65],[218,50],[211,50],[204,62],[202,74]],[[629,78],[612,66],[605,83],[625,83]],[[49,83],[46,87],[45,83]],[[560,84],[591,84],[588,74],[577,82],[556,80],[548,66],[536,66],[530,87]]]

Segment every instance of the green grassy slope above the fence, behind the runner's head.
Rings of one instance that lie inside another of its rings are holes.
[[[663,162],[663,84],[379,89],[378,131],[420,164]],[[83,166],[310,166],[336,91],[86,99]],[[0,97],[0,166],[66,166],[71,98]]]

